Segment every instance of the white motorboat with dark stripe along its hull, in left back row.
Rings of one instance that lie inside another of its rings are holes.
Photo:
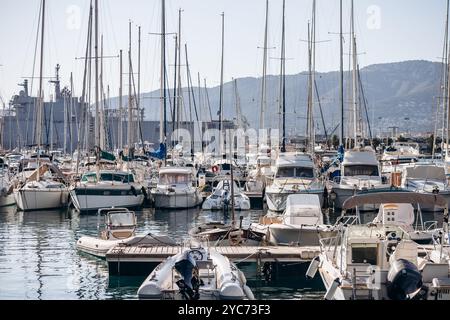
[[[144,192],[132,173],[100,170],[83,174],[81,181],[70,188],[70,197],[78,211],[97,211],[108,207],[140,207]]]

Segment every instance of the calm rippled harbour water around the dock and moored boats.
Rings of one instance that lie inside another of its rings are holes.
[[[241,215],[248,225],[257,222],[262,211]],[[365,214],[363,220],[374,217]],[[137,218],[137,233],[169,235],[177,241],[186,239],[195,225],[229,220],[223,213],[198,209],[144,209],[137,212]],[[336,215],[326,215],[325,223],[335,219]],[[23,213],[15,207],[0,209],[0,299],[137,299],[137,289],[145,277],[110,278],[105,261],[75,249],[76,240],[83,235],[97,235],[96,215],[71,210]],[[258,299],[321,299],[324,295],[320,277],[305,280],[308,265],[282,265],[272,279],[257,275],[255,264],[239,267]]]

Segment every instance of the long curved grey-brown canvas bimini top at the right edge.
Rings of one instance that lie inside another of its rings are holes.
[[[373,192],[366,194],[358,194],[348,198],[342,209],[348,210],[360,207],[365,204],[383,204],[383,203],[411,203],[428,206],[438,206],[447,208],[447,201],[438,194],[425,194],[417,192]]]

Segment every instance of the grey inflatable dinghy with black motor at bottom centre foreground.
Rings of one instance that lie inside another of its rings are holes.
[[[241,270],[228,258],[190,245],[162,262],[138,290],[140,299],[254,300]]]

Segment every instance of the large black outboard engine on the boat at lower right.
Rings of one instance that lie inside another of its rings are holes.
[[[422,287],[422,274],[416,265],[399,259],[392,263],[388,273],[387,291],[391,300],[407,300],[408,295]]]

